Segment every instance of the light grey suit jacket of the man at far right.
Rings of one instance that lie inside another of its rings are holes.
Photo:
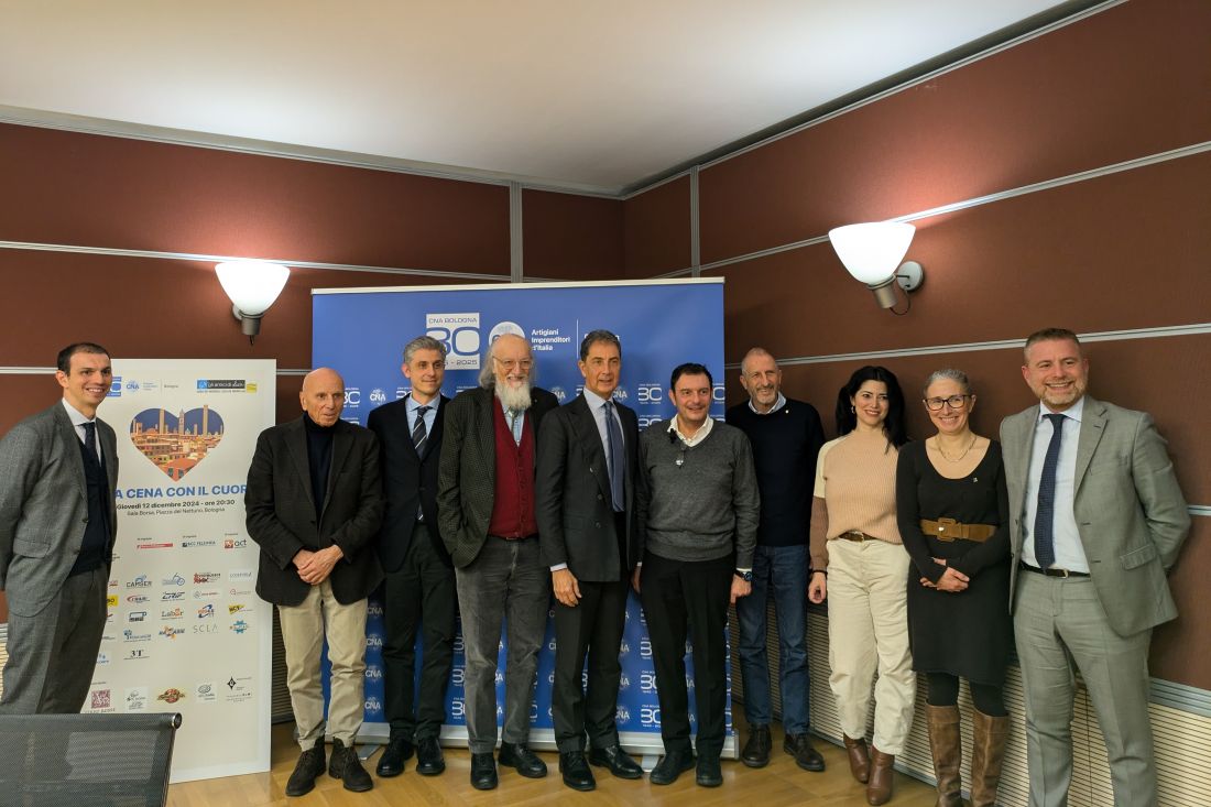
[[[1022,551],[1026,483],[1039,407],[1000,424],[1014,553],[1010,609]],[[1177,616],[1165,573],[1190,528],[1173,464],[1152,418],[1085,396],[1073,510],[1089,571],[1120,636]]]

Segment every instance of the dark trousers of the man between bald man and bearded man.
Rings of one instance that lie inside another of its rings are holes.
[[[457,602],[454,570],[438,556],[425,525],[417,523],[403,565],[389,572],[383,584],[384,705],[392,739],[437,737],[446,722]],[[418,633],[423,641],[419,692]]]

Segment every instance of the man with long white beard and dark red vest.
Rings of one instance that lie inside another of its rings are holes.
[[[505,333],[488,348],[480,387],[450,401],[437,483],[437,523],[454,562],[466,647],[471,785],[497,786],[497,659],[507,625],[500,763],[532,779],[546,763],[527,748],[551,574],[539,556],[534,457],[543,416],[558,407],[532,385],[529,343]]]

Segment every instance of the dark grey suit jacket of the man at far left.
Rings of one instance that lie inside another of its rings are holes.
[[[97,419],[109,491],[117,485],[117,439]],[[109,545],[117,510],[109,497]],[[80,556],[88,516],[88,483],[80,437],[62,402],[15,425],[0,441],[0,589],[8,608],[33,617],[58,594]]]

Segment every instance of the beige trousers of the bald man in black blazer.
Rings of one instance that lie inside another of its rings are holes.
[[[323,738],[323,691],[320,688],[320,653],[328,640],[332,662],[332,699],[328,733],[346,746],[362,727],[366,702],[366,600],[337,602],[332,580],[312,585],[297,606],[277,606],[286,649],[286,686],[291,691],[299,746],[312,748]]]

